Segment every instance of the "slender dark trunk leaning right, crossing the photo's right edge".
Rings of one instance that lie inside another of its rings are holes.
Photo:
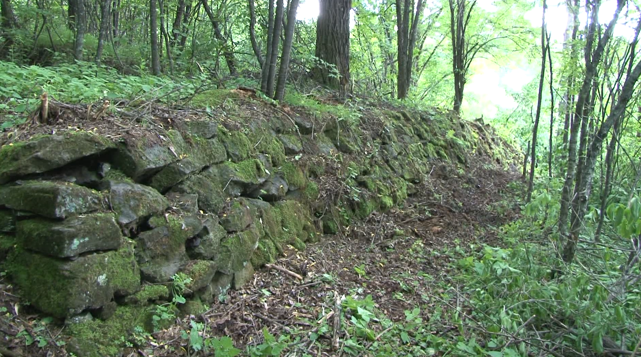
[[[622,4],[619,3],[615,19],[617,19],[618,12],[620,12],[621,8]],[[606,31],[606,33],[607,32],[608,31]],[[612,33],[612,31],[610,31],[610,33]],[[620,120],[624,115],[626,107],[628,106],[628,103],[635,91],[635,84],[637,84],[639,75],[641,75],[641,61],[637,63],[631,74],[626,77],[619,99],[617,99],[617,104],[613,107],[608,118],[601,124],[599,131],[597,131],[594,139],[592,139],[592,143],[590,143],[590,146],[588,147],[585,157],[585,168],[581,172],[581,176],[577,177],[580,184],[574,198],[572,199],[572,210],[574,211],[574,214],[572,214],[572,220],[570,223],[570,239],[567,240],[563,247],[563,261],[566,263],[572,262],[572,260],[574,260],[574,255],[576,254],[576,245],[579,241],[579,235],[583,230],[583,218],[587,210],[588,198],[590,197],[594,166],[597,161],[597,157],[601,152],[601,145],[603,145],[603,140],[608,135],[608,132],[610,132],[612,125]]]

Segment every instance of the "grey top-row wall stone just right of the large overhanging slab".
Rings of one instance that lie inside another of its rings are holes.
[[[185,140],[178,131],[168,131],[162,138],[162,143],[151,145],[144,140],[121,143],[112,155],[112,163],[136,182],[142,182],[165,166],[178,161],[185,152]]]

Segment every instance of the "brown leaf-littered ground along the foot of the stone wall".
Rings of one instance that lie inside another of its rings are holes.
[[[405,321],[407,311],[420,306],[420,317],[428,321],[431,305],[449,304],[442,287],[453,283],[457,273],[451,252],[469,251],[482,244],[500,246],[501,226],[519,218],[520,184],[520,175],[491,162],[470,160],[467,167],[460,168],[435,162],[428,179],[415,187],[416,193],[404,207],[384,214],[374,212],[340,234],[309,244],[304,251],[285,251],[274,263],[283,269],[257,269],[244,289],[230,290],[227,298],[210,306],[208,312],[180,317],[171,328],[138,338],[122,356],[213,356],[195,353],[193,341],[190,347],[185,337],[195,325],[200,326],[197,330],[203,339],[228,336],[242,351],[263,344],[263,328],[267,328],[276,338],[286,337],[281,347],[298,351],[296,355],[345,355],[345,349],[353,346],[345,345],[350,336],[340,326],[349,323],[345,317],[349,313],[339,311],[344,296],[361,300],[371,296],[376,311],[392,322]],[[12,345],[24,354],[6,355],[67,355],[63,346],[51,344],[62,338],[61,328],[43,324],[15,294],[0,276],[0,313],[11,316],[0,319],[0,331],[35,343]],[[347,320],[340,321],[341,316]],[[368,356],[372,343],[387,332],[381,324],[370,327],[374,338],[365,340],[360,356]],[[456,326],[444,322],[442,330],[433,333],[444,335],[454,329]],[[38,336],[43,334],[49,345],[40,348]],[[0,354],[9,352],[0,350]]]

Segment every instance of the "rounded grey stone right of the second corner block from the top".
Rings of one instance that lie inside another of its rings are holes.
[[[129,182],[106,182],[110,207],[122,226],[136,225],[153,214],[162,214],[169,201],[151,187]]]

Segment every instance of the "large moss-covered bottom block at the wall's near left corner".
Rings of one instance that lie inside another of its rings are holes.
[[[21,296],[38,310],[67,317],[106,305],[113,296],[140,288],[133,242],[123,239],[119,250],[83,255],[76,260],[19,250],[9,264]]]

